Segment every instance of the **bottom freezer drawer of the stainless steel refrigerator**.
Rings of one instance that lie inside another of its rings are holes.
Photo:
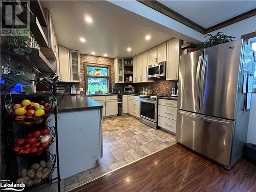
[[[230,165],[235,121],[177,111],[176,140],[225,166]]]

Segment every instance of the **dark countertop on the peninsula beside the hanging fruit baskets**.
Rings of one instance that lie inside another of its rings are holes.
[[[86,95],[63,95],[58,103],[58,112],[100,109],[103,105],[90,99]]]

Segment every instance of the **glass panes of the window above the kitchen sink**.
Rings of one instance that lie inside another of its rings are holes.
[[[100,89],[102,93],[109,93],[109,67],[88,64],[86,69],[88,92],[94,94]]]

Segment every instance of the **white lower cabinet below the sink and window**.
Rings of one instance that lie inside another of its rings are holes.
[[[117,115],[117,95],[92,96],[91,99],[103,105],[103,117]]]

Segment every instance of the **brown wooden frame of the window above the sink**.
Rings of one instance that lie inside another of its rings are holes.
[[[108,69],[108,76],[95,76],[95,75],[87,75],[87,67],[101,67],[101,68],[107,68]],[[105,64],[105,63],[91,63],[91,62],[84,62],[84,80],[85,80],[85,87],[86,90],[88,90],[88,78],[106,78],[108,82],[108,93],[110,93],[111,90],[111,65],[110,64]],[[89,91],[89,90],[88,90]]]

